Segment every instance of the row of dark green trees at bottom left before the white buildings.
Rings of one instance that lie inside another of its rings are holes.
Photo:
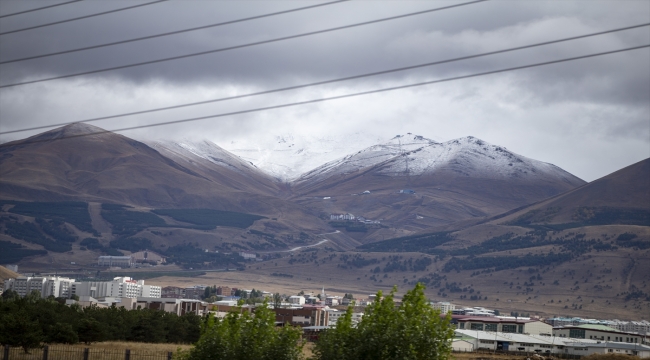
[[[9,290],[0,298],[0,343],[25,350],[41,343],[107,340],[193,343],[199,335],[200,317],[193,313],[66,306],[64,299],[42,299],[38,291],[21,298]]]

